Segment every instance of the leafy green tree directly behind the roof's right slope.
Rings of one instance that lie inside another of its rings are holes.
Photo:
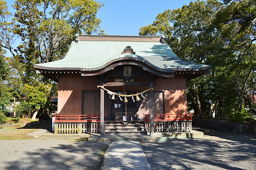
[[[181,59],[198,64],[211,64],[211,76],[215,77],[215,63],[219,62],[213,62],[212,56],[220,55],[223,41],[212,21],[220,8],[221,3],[217,0],[190,2],[182,8],[158,14],[153,24],[140,28],[139,34],[164,34],[166,42]],[[202,104],[202,101],[207,98],[207,88],[212,86],[207,84],[211,76],[188,82],[188,103],[193,105],[199,116],[203,116],[207,110],[206,103]]]

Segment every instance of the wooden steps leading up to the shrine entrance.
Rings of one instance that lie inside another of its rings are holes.
[[[122,122],[106,122],[105,134],[147,134],[144,121],[132,121],[124,125]]]

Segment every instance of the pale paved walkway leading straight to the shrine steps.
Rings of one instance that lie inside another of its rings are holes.
[[[150,170],[139,141],[112,142],[105,153],[102,169]]]

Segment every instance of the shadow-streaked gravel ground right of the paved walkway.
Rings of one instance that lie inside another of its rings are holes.
[[[140,144],[151,169],[256,169],[255,134],[218,134]]]

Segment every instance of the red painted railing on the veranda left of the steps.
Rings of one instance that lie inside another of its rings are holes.
[[[54,114],[54,116],[55,116],[54,122],[100,122],[100,114],[78,114],[78,115]]]

